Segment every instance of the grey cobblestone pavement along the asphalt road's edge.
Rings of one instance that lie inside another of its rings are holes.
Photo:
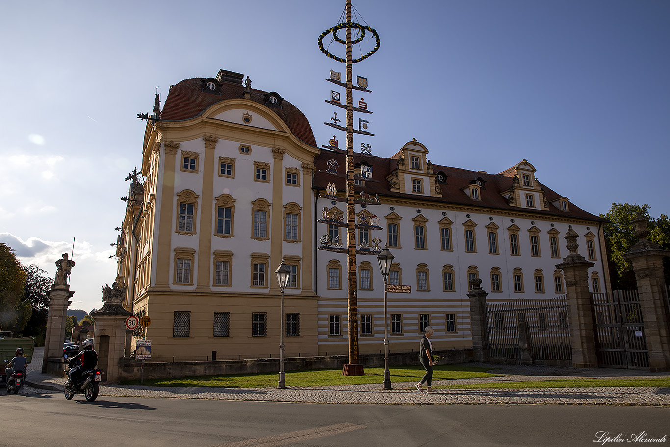
[[[40,353],[38,353],[39,355]],[[34,365],[40,365],[38,355]],[[492,365],[468,363],[468,366],[490,367],[502,377],[458,380],[458,383],[500,381],[542,381],[584,378],[657,378],[665,373],[649,373],[626,369],[576,369],[542,365]],[[36,368],[38,369],[38,368]],[[22,393],[62,391],[65,379],[37,372],[28,372]],[[216,388],[216,387],[148,387],[141,385],[101,385],[104,397],[170,397],[176,399],[222,399],[301,403],[366,403],[384,405],[466,404],[545,404],[545,405],[663,405],[670,406],[670,388],[656,387],[589,387],[589,388],[526,388],[526,389],[439,389],[454,381],[433,381],[435,393],[420,393],[413,382],[393,383],[392,390],[381,383],[369,385],[336,385],[330,387]]]

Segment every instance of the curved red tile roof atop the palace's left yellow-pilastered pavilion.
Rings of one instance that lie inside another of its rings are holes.
[[[226,99],[243,98],[245,87],[231,82],[220,82],[220,94],[204,90],[204,80],[208,78],[190,78],[172,86],[167,94],[161,119],[168,121],[182,121],[197,117],[212,105]],[[261,90],[251,89],[251,101],[265,105],[265,94]],[[316,139],[310,122],[305,115],[294,105],[286,101],[281,102],[281,108],[270,107],[286,125],[293,135],[308,145],[316,147]]]

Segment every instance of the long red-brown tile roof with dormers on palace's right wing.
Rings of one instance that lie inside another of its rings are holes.
[[[338,163],[338,174],[330,174],[327,171],[327,164],[330,159],[335,159]],[[316,175],[314,176],[314,188],[318,190],[325,190],[328,183],[333,182],[340,192],[346,190],[346,152],[344,150],[330,150],[322,149],[322,152],[314,160],[316,166]],[[598,222],[606,222],[606,220],[582,210],[574,203],[569,204],[569,212],[562,211],[551,202],[557,200],[562,196],[540,184],[545,192],[545,197],[549,202],[549,210],[541,210],[539,208],[524,208],[519,206],[511,206],[507,202],[507,198],[501,195],[512,186],[512,179],[515,170],[505,170],[500,174],[486,174],[484,172],[464,170],[460,168],[452,168],[451,166],[440,166],[433,164],[433,174],[444,172],[447,176],[446,184],[440,184],[442,188],[441,197],[430,197],[419,194],[405,194],[401,192],[393,192],[389,189],[389,181],[386,179],[396,168],[398,161],[394,158],[376,157],[375,155],[366,155],[363,153],[354,154],[354,164],[360,162],[367,162],[372,166],[373,177],[372,180],[366,180],[365,186],[356,186],[356,193],[367,192],[371,196],[379,195],[383,202],[383,197],[406,198],[410,200],[425,200],[426,202],[440,202],[445,204],[476,206],[478,208],[490,208],[496,210],[509,210],[516,212],[529,212],[531,214],[538,214],[543,216],[560,216],[565,218],[580,218],[586,220],[595,220]],[[482,178],[484,180],[484,187],[480,194],[481,200],[472,200],[463,188],[471,184],[472,180]]]

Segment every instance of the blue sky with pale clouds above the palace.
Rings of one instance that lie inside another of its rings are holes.
[[[668,214],[670,2],[354,0],[381,48],[354,65],[373,154],[413,138],[435,164],[501,172],[528,159],[578,206]],[[54,275],[76,237],[72,308],[99,308],[110,243],[141,162],[155,87],[249,75],[332,137],[319,34],[344,1],[37,1],[3,5],[0,241]],[[329,40],[326,38],[326,44]],[[370,46],[363,52],[367,52]],[[332,52],[344,50],[335,42]],[[360,51],[359,51],[360,52]],[[355,56],[355,53],[354,53]],[[360,95],[359,95],[360,96]],[[354,102],[358,97],[354,95]],[[344,141],[344,138],[338,139]]]

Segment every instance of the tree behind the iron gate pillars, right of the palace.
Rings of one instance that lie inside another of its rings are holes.
[[[635,275],[630,262],[624,259],[624,254],[630,251],[637,243],[632,221],[639,215],[649,219],[649,240],[658,244],[661,249],[670,248],[670,220],[665,214],[659,218],[649,216],[649,205],[638,205],[628,203],[612,203],[612,208],[607,214],[600,217],[610,220],[603,227],[605,247],[607,250],[608,265],[612,288],[614,290],[632,290],[636,288]],[[666,283],[670,283],[670,263],[664,260],[664,273]]]

